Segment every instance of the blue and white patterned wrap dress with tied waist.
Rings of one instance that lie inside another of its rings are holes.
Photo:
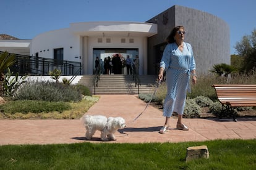
[[[192,46],[183,42],[181,52],[173,42],[163,52],[160,67],[166,70],[167,94],[164,100],[163,116],[171,117],[173,112],[183,114],[187,91],[190,91],[190,71],[195,70]]]

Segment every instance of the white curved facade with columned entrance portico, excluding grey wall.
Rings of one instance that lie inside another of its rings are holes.
[[[32,39],[30,55],[82,63],[82,74],[91,75],[95,59],[119,54],[126,59],[139,55],[139,74],[147,75],[147,39],[157,34],[155,23],[82,22],[49,31]]]

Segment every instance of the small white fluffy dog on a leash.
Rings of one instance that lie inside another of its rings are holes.
[[[126,121],[121,117],[109,117],[102,115],[85,115],[82,118],[85,129],[85,137],[87,140],[91,140],[95,131],[101,131],[101,140],[116,140],[114,133],[118,129],[124,129],[126,127]]]

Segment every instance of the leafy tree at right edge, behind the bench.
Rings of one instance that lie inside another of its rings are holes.
[[[243,70],[249,72],[256,68],[256,29],[251,35],[243,36],[240,42],[236,43],[236,51],[244,57]]]

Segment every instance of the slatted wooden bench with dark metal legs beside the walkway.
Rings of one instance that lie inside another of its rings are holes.
[[[256,84],[213,84],[222,113],[231,113],[237,121],[234,108],[256,106]]]

